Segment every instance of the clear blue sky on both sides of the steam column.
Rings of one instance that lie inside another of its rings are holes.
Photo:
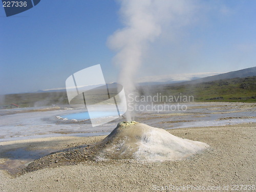
[[[136,77],[256,66],[256,1],[186,2],[181,8],[188,9],[173,14],[147,45]],[[98,63],[106,82],[117,81],[120,68],[108,39],[127,27],[120,6],[41,0],[10,17],[0,8],[0,94],[65,87],[71,74]]]

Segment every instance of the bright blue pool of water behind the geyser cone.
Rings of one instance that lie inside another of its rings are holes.
[[[68,115],[61,116],[63,119],[76,119],[76,120],[86,120],[86,119],[94,119],[94,118],[103,118],[103,117],[110,117],[110,116],[118,116],[116,111],[110,112],[110,111],[101,111],[101,112],[90,112],[90,115],[88,112],[81,112],[81,113],[73,113]]]

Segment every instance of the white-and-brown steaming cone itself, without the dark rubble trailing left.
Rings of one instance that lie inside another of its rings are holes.
[[[167,131],[138,122],[121,122],[93,147],[98,159],[136,159],[145,161],[179,160],[208,145],[176,137]]]

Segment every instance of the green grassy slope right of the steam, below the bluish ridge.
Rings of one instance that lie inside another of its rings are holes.
[[[196,102],[256,102],[256,77],[222,79],[181,86],[163,85],[150,88],[152,95],[194,96]],[[141,94],[144,94],[141,91]]]

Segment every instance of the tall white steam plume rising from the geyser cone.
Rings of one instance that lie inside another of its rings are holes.
[[[129,94],[136,91],[134,77],[146,57],[148,47],[157,40],[166,26],[174,24],[177,27],[188,23],[193,6],[183,0],[118,2],[121,4],[120,15],[124,27],[110,36],[108,43],[111,49],[117,51],[113,61],[121,69],[119,82],[126,94]],[[132,103],[127,104],[129,106]],[[132,120],[129,112],[126,113],[126,120]]]

